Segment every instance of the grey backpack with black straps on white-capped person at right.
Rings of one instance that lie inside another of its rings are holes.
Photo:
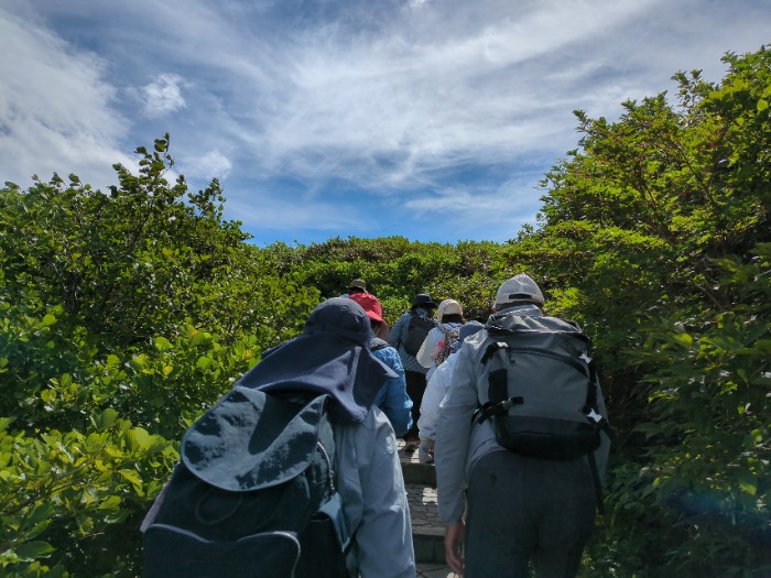
[[[589,338],[556,317],[521,316],[513,328],[488,326],[487,334],[487,400],[480,392],[476,421],[491,419],[498,443],[523,456],[587,456],[601,511],[594,451],[600,430],[610,432],[598,410]]]

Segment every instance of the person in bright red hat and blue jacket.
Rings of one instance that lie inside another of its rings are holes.
[[[382,307],[378,298],[369,293],[351,293],[348,298],[361,305],[369,317],[372,332],[378,335],[380,325],[384,323]],[[412,400],[406,394],[402,361],[397,350],[379,337],[372,338],[370,350],[374,357],[397,373],[395,378],[388,380],[380,389],[372,403],[383,411],[397,436],[403,436],[412,427]]]

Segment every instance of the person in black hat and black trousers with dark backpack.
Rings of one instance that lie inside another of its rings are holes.
[[[421,401],[425,391],[428,371],[417,362],[415,356],[420,351],[428,331],[436,326],[433,312],[436,304],[431,295],[419,293],[412,299],[412,307],[393,324],[388,337],[388,343],[399,351],[399,357],[404,367],[406,380],[406,394],[412,400],[412,427],[404,434],[404,451],[413,454],[417,449],[421,439],[417,432],[417,418],[420,417]]]

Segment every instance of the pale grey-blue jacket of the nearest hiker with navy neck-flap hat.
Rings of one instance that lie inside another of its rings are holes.
[[[414,578],[410,508],[397,438],[373,406],[363,422],[335,425],[337,486],[348,531],[351,576]]]

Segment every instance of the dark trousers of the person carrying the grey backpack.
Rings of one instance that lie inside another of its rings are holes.
[[[571,578],[591,534],[597,501],[583,459],[558,461],[493,451],[467,490],[465,578]]]

